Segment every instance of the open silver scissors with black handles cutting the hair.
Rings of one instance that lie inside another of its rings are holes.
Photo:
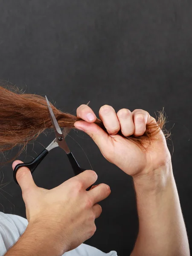
[[[72,128],[64,128],[63,131],[61,131],[61,128],[58,125],[56,117],[55,117],[55,115],[52,111],[52,108],[49,104],[49,101],[47,99],[47,96],[45,96],[45,98],[47,100],[48,111],[49,111],[49,115],[50,115],[50,118],[52,121],[54,131],[55,131],[56,138],[34,160],[32,160],[29,163],[18,163],[15,166],[15,168],[13,170],[13,179],[15,180],[15,183],[17,183],[17,184],[18,184],[18,182],[16,179],[16,173],[20,167],[25,166],[25,167],[29,168],[31,173],[33,173],[35,171],[35,169],[37,168],[37,166],[41,163],[41,161],[47,156],[49,151],[51,151],[53,148],[56,148],[56,147],[60,147],[65,151],[75,175],[78,175],[79,173],[84,172],[86,170],[79,166],[79,164],[77,163],[75,157],[73,156],[72,152],[70,151],[70,149],[65,141],[65,137],[67,136],[67,134],[69,134],[69,132]],[[86,105],[88,105],[88,104],[89,104],[89,102]],[[90,190],[90,188],[92,186],[93,185],[88,187],[86,190],[87,191]]]

